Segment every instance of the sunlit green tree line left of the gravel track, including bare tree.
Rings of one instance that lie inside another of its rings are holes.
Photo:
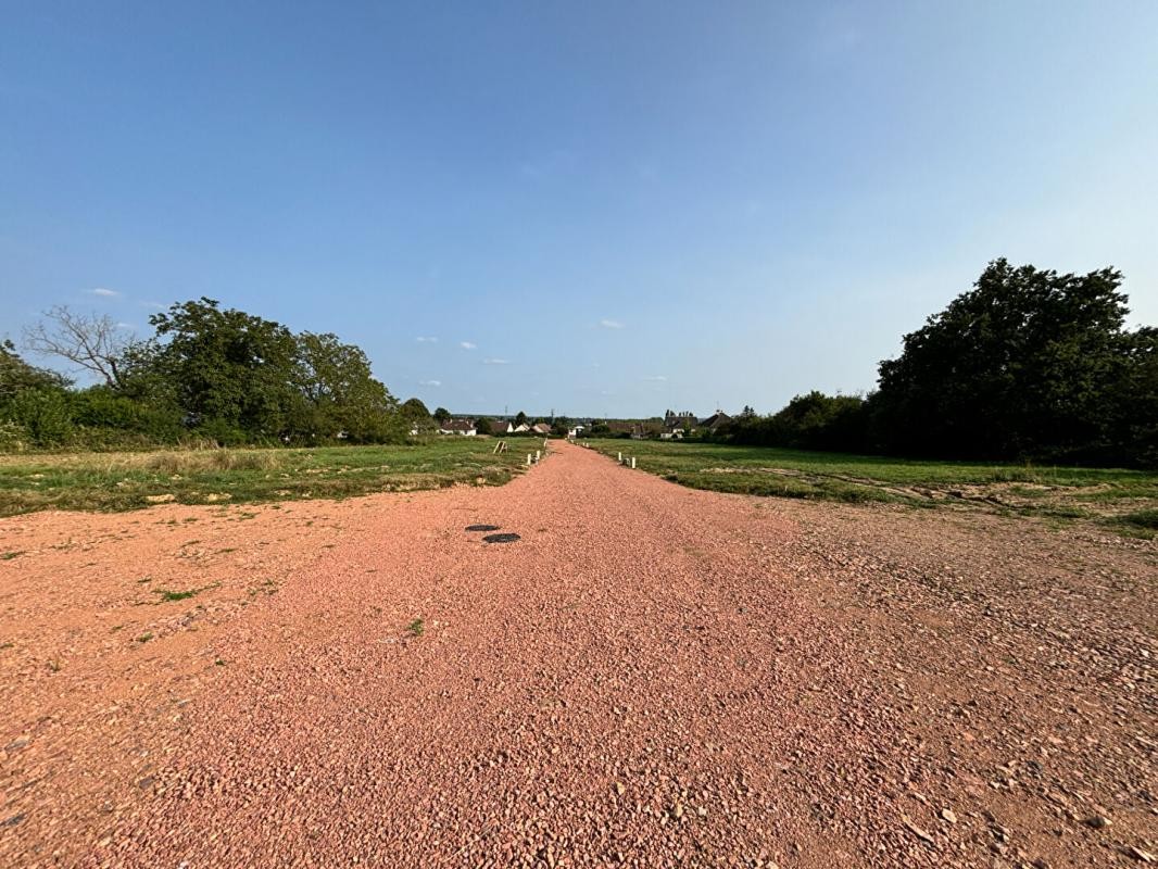
[[[28,329],[29,350],[97,381],[82,388],[0,343],[0,447],[393,443],[416,425],[416,409],[336,335],[295,334],[208,298],[149,324],[135,339],[108,316],[56,307]]]

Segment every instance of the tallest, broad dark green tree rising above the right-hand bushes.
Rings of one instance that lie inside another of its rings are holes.
[[[1058,275],[996,260],[880,364],[872,404],[893,450],[1014,458],[1097,453],[1137,360],[1114,269]]]

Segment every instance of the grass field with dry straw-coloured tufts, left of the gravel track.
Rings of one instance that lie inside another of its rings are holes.
[[[0,516],[505,483],[522,455],[492,455],[493,448],[491,438],[442,438],[406,446],[0,455]]]

